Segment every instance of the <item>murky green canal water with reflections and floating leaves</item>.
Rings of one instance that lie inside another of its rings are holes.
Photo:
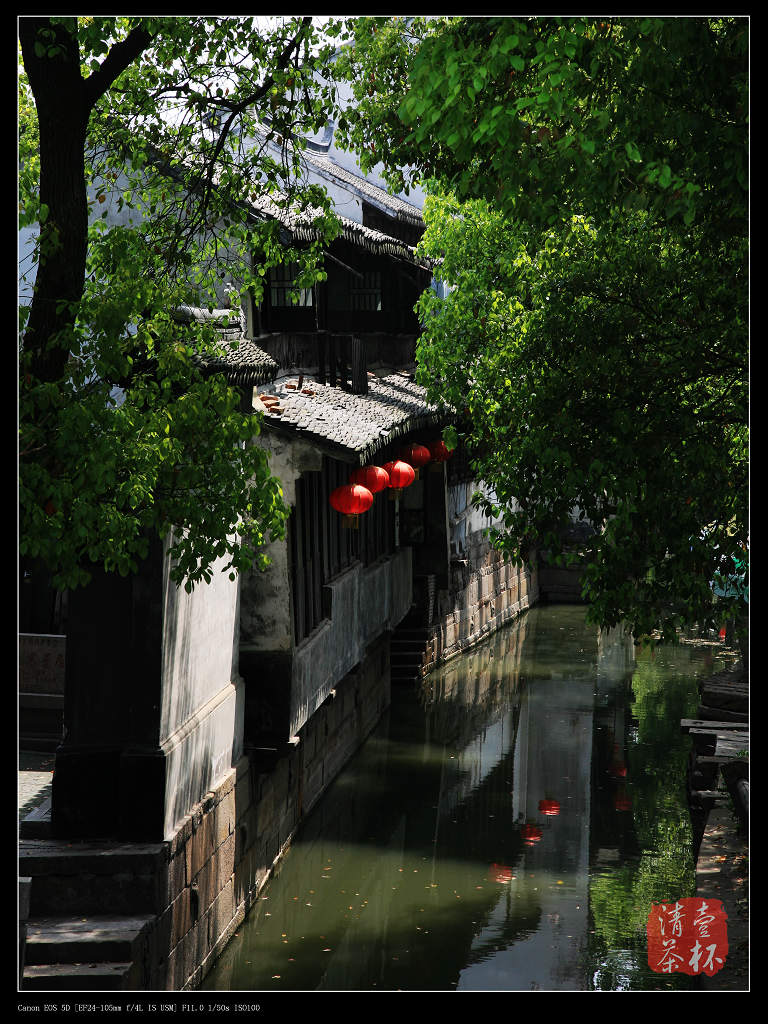
[[[694,893],[697,680],[584,607],[536,607],[392,705],[307,817],[205,989],[665,990],[653,902]]]

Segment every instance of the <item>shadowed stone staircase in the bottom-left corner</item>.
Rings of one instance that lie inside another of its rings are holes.
[[[145,987],[164,845],[19,842],[31,880],[22,990]]]

